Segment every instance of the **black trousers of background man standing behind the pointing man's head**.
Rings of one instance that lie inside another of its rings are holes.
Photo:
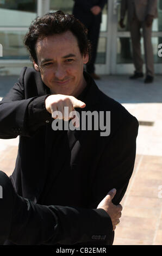
[[[97,56],[97,46],[99,39],[99,31],[101,25],[101,13],[98,15],[93,15],[89,12],[84,12],[84,10],[79,9],[76,5],[73,8],[73,15],[79,21],[81,21],[86,28],[88,28],[88,39],[91,42],[91,59],[88,64],[86,64],[86,71],[91,74],[95,72],[95,62]]]

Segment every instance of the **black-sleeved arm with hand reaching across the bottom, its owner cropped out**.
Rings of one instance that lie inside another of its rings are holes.
[[[115,189],[109,191],[98,209],[85,210],[34,204],[15,193],[10,179],[2,171],[0,188],[0,245],[6,239],[16,245],[74,244],[93,241],[96,236],[105,240],[121,217],[122,206],[111,203]]]

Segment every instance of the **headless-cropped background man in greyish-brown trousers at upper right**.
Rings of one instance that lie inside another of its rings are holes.
[[[128,11],[128,23],[132,39],[134,75],[130,79],[143,77],[143,59],[141,56],[141,33],[144,36],[146,77],[145,83],[152,83],[154,79],[153,48],[151,42],[152,22],[157,17],[157,0],[122,0],[120,26],[123,28],[124,16]]]

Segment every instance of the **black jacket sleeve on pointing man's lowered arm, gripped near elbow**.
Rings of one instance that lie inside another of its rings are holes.
[[[98,163],[90,207],[95,207],[112,188],[117,191],[113,203],[121,202],[134,168],[138,125],[131,115],[110,138]]]

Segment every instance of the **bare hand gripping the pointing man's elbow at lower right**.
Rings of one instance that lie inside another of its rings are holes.
[[[99,203],[97,209],[103,209],[111,218],[113,224],[113,230],[116,229],[116,225],[120,222],[119,218],[121,217],[122,206],[121,204],[115,205],[112,203],[112,200],[116,194],[116,189],[110,190],[107,196]]]

